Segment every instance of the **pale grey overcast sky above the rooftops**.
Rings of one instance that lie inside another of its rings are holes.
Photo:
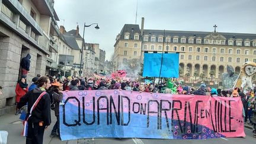
[[[138,5],[137,5],[138,2]],[[55,0],[55,10],[66,31],[76,29],[85,42],[98,43],[106,60],[114,53],[116,36],[124,24],[137,24],[145,17],[145,29],[256,33],[255,0]],[[65,20],[65,23],[64,21]]]

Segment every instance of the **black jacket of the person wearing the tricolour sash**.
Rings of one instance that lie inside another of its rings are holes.
[[[35,88],[33,91],[29,91],[20,99],[20,103],[18,103],[17,108],[23,107],[26,103],[28,103],[28,111],[30,111],[32,105],[36,102],[37,98],[39,98],[41,91],[40,88]],[[28,117],[28,114],[27,114]],[[28,123],[39,123],[43,121],[44,126],[49,126],[51,123],[50,117],[50,96],[48,93],[44,94],[41,97],[39,103],[34,108],[31,113],[31,117],[28,119]]]

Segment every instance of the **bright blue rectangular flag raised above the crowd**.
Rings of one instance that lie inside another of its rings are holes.
[[[178,78],[179,77],[179,53],[145,53],[143,75],[149,77],[158,77],[161,68],[161,76],[164,78]]]

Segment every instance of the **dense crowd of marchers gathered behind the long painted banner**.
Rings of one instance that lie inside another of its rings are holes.
[[[0,95],[2,87],[0,87]],[[50,107],[55,111],[56,123],[52,129],[51,137],[59,137],[59,103],[62,101],[62,91],[78,91],[78,90],[95,90],[95,89],[120,89],[126,91],[138,91],[138,92],[159,92],[169,94],[183,94],[183,95],[209,95],[212,97],[241,97],[243,104],[243,115],[245,117],[245,123],[254,126],[253,133],[256,133],[256,97],[254,94],[256,88],[242,92],[241,89],[216,89],[207,87],[206,84],[201,83],[200,87],[194,88],[188,85],[181,85],[178,82],[173,82],[169,79],[167,82],[161,82],[160,84],[153,84],[151,81],[139,82],[139,81],[121,81],[116,79],[95,79],[95,78],[76,78],[75,76],[68,76],[68,78],[60,78],[58,76],[40,76],[37,75],[32,79],[30,85],[27,84],[26,76],[21,76],[21,79],[17,83],[15,92],[17,94],[16,103],[17,111],[15,114],[20,113],[19,109],[24,105],[28,105],[28,114],[32,115],[32,122],[30,123],[43,123],[43,128],[30,127],[30,132],[33,129],[38,129],[38,133],[28,133],[28,142],[43,143],[43,130],[49,126],[50,120]],[[35,103],[36,99],[31,95],[37,95],[39,97],[44,91],[47,92],[43,96],[43,103],[40,103],[39,107],[35,111],[30,113],[31,106]],[[47,103],[47,104],[46,104]],[[28,118],[28,114],[27,117]],[[38,125],[38,124],[37,124]],[[256,134],[254,134],[256,136]]]

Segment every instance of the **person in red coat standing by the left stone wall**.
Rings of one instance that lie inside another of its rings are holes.
[[[16,85],[15,92],[16,92],[16,103],[19,103],[20,98],[23,97],[23,95],[27,94],[28,92],[28,84],[25,80],[25,76],[21,76],[21,79],[18,81],[18,84]],[[17,115],[18,113],[19,113],[18,108],[16,108],[15,115]]]

